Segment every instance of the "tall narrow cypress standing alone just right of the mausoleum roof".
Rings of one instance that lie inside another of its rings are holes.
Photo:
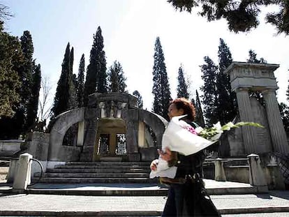
[[[161,47],[160,38],[156,38],[154,45],[154,67],[153,67],[154,94],[153,112],[168,119],[168,107],[170,105],[170,84],[168,83],[168,74],[165,67],[165,57]]]

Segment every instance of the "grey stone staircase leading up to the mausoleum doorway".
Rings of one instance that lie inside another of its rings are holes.
[[[149,179],[149,162],[67,162],[47,169],[40,180],[36,173],[32,182],[50,184],[149,184],[157,179]]]

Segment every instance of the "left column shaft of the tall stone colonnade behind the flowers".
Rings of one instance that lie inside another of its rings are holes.
[[[235,90],[241,121],[254,121],[251,109],[248,89],[238,88]],[[255,129],[252,126],[242,126],[242,135],[245,154],[255,152]]]

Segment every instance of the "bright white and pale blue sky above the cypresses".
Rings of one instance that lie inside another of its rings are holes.
[[[157,36],[163,46],[172,98],[177,96],[180,64],[191,80],[191,93],[195,96],[195,89],[199,90],[203,84],[199,66],[205,56],[218,64],[219,38],[223,38],[233,61],[246,61],[251,49],[258,59],[262,57],[267,63],[280,65],[274,73],[280,88],[277,97],[279,102],[286,103],[289,36],[276,36],[276,29],[265,24],[262,15],[257,29],[236,34],[228,31],[225,20],[207,22],[194,13],[196,10],[192,14],[179,13],[166,0],[0,0],[0,3],[9,6],[15,15],[6,22],[6,31],[19,37],[23,31],[30,31],[36,63],[40,63],[43,76],[50,77],[54,90],[67,43],[74,47],[73,73],[77,74],[82,54],[85,68],[89,64],[93,35],[100,26],[107,68],[114,60],[121,63],[129,93],[138,90],[148,110],[153,103],[152,67]]]

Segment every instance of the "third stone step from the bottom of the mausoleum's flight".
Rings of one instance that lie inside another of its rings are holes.
[[[89,173],[89,172],[92,172],[92,173],[96,173],[96,172],[99,172],[99,173],[105,173],[105,172],[108,172],[108,173],[113,173],[113,172],[123,172],[123,173],[126,173],[126,172],[146,172],[146,173],[149,173],[151,172],[151,170],[149,169],[142,169],[142,168],[117,168],[117,169],[107,169],[107,168],[97,168],[97,169],[87,169],[87,168],[64,168],[64,169],[50,169],[48,168],[46,170],[46,172],[61,172],[61,173],[68,173],[68,172],[72,172],[72,173],[77,173],[77,172],[82,172],[82,173]]]

